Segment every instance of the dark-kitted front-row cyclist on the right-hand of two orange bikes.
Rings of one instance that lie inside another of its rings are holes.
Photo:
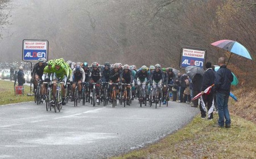
[[[122,72],[122,83],[131,84],[132,81],[133,81],[133,76],[132,76],[131,70],[129,69],[129,65],[124,65],[123,72]],[[123,90],[124,89],[125,88],[123,87]],[[131,86],[127,86],[127,101],[130,100],[130,89],[131,89]],[[127,105],[130,105],[130,103],[127,102]]]

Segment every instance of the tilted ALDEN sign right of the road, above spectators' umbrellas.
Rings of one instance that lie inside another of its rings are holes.
[[[180,52],[180,68],[199,66],[204,69],[207,50],[202,48],[182,47]]]

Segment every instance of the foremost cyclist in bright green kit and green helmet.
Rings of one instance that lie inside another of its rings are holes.
[[[66,90],[65,90],[65,83],[67,82],[67,77],[69,76],[69,68],[66,67],[66,65],[64,64],[64,60],[63,58],[60,59],[56,59],[54,61],[54,66],[53,66],[53,81],[57,82],[57,81],[61,81],[64,82],[61,84],[61,91],[62,91],[62,104],[65,105],[65,94],[66,94]],[[55,98],[55,94],[56,94],[56,89],[57,89],[57,83],[53,83],[53,88],[52,88],[52,92],[53,92],[53,98]]]

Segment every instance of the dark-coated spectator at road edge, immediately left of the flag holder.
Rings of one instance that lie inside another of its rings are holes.
[[[196,97],[196,95],[200,93],[201,87],[202,87],[202,82],[203,82],[203,76],[201,74],[197,73],[195,75],[195,77],[192,79],[193,97]],[[199,99],[195,99],[193,101],[193,104],[191,105],[191,107],[198,107],[198,100]]]

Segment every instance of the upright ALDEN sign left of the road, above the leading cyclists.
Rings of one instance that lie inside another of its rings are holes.
[[[24,39],[22,47],[22,60],[32,61],[39,58],[46,58],[48,61],[48,41]]]

